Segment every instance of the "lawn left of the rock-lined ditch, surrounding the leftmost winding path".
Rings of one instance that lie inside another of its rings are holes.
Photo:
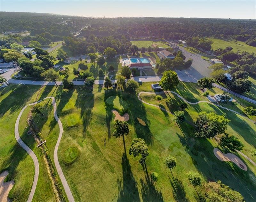
[[[14,126],[21,108],[35,101],[39,88],[40,86],[10,85],[0,91],[0,173],[8,170],[6,180],[15,181],[9,194],[13,202],[27,201],[35,172],[31,157],[18,145],[14,137]],[[21,139],[35,152],[39,161],[39,178],[33,201],[52,202],[55,201],[55,197],[41,150],[36,147],[33,136],[27,134],[28,112],[29,108],[21,116],[19,132]]]

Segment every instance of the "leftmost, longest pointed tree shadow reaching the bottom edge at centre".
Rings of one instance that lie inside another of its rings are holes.
[[[137,182],[132,174],[131,164],[123,153],[122,157],[123,182],[117,179],[117,202],[140,202]]]

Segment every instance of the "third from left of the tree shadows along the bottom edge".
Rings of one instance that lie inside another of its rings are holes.
[[[186,196],[186,191],[183,183],[177,177],[170,178],[170,183],[172,185],[172,194],[177,202],[190,202]]]

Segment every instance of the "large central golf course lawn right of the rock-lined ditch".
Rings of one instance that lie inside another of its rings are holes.
[[[153,92],[150,88],[151,83],[143,83],[139,87],[139,91]],[[35,93],[39,86],[33,88],[35,88]],[[175,91],[191,102],[205,99],[201,95],[202,92],[193,83],[181,82]],[[17,89],[13,96],[20,96],[21,92],[24,93],[24,89]],[[219,92],[219,89],[215,88],[210,91],[211,94]],[[5,94],[8,97],[9,92]],[[253,191],[256,189],[256,169],[247,160],[239,156],[246,163],[248,171],[241,170],[233,163],[219,161],[213,154],[213,148],[219,147],[222,151],[223,149],[214,139],[195,138],[192,125],[177,124],[173,121],[172,115],[164,113],[156,107],[143,104],[138,100],[136,94],[127,94],[118,89],[106,90],[100,85],[94,85],[92,91],[85,89],[84,86],[76,86],[69,91],[62,89],[62,86],[44,86],[39,99],[50,95],[56,99],[57,114],[64,130],[58,151],[60,166],[64,175],[68,176],[67,181],[75,201],[172,202],[185,201],[184,198],[188,198],[189,201],[196,202],[194,197],[196,192],[186,179],[186,174],[190,170],[198,171],[203,176],[203,183],[221,180],[232,189],[239,191],[246,201],[253,201],[253,198],[256,198]],[[153,171],[159,173],[156,186],[139,164],[139,157],[133,157],[127,153],[126,158],[122,138],[112,136],[115,115],[111,112],[112,105],[106,103],[111,96],[118,96],[128,105],[130,133],[125,136],[126,150],[129,150],[132,138],[144,138],[148,144],[147,171],[148,173]],[[172,94],[163,94],[163,97],[161,103],[168,110],[173,112],[178,109],[180,99]],[[25,98],[28,99],[28,95],[24,95],[23,99]],[[158,104],[154,95],[145,95],[142,99]],[[20,103],[23,102],[12,101],[10,106]],[[44,106],[44,116],[36,114],[34,120],[42,136],[47,140],[46,145],[52,158],[59,128],[53,117],[51,103],[45,100],[41,104]],[[235,106],[233,107],[235,108]],[[11,107],[9,108],[11,109]],[[15,112],[18,108],[12,107],[12,110]],[[238,136],[245,144],[243,152],[253,158],[249,154],[250,150],[256,146],[254,134],[256,126],[253,123],[207,103],[189,105],[186,109],[187,119],[195,120],[201,111],[213,111],[231,119],[228,133]],[[73,127],[69,127],[67,120],[70,115],[74,114],[78,116],[79,121]],[[8,115],[10,118],[10,114]],[[138,122],[138,117],[146,123],[146,126]],[[3,145],[5,146],[6,142]],[[76,156],[70,151],[65,154],[65,151],[72,147],[77,148],[79,155],[72,164],[67,165],[64,159],[67,156]],[[8,159],[8,151],[6,159]],[[170,180],[171,173],[164,166],[163,159],[166,155],[173,155],[177,158],[178,164],[173,170],[174,181]],[[198,191],[203,194],[204,188],[198,188]]]

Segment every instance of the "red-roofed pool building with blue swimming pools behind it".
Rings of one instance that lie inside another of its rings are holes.
[[[135,57],[135,58],[124,58],[122,60],[123,66],[128,66],[130,69],[144,70],[152,68],[150,60],[144,57]]]

